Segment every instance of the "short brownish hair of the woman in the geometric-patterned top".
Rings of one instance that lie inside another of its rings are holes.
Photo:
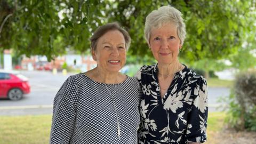
[[[91,51],[96,50],[98,39],[110,30],[120,31],[120,33],[122,33],[124,36],[126,51],[129,49],[130,43],[131,43],[131,37],[130,37],[129,33],[125,29],[121,28],[117,22],[112,22],[112,23],[107,23],[106,25],[100,26],[99,28],[97,28],[94,31],[92,37],[90,38]]]

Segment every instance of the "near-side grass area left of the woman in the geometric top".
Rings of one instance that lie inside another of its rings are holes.
[[[0,143],[49,143],[51,115],[1,116]]]

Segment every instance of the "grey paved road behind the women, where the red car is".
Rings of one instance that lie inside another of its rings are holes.
[[[68,78],[68,74],[53,75],[49,71],[22,71],[29,78],[31,93],[19,101],[0,100],[1,115],[41,115],[52,114],[52,104],[59,87]],[[209,87],[209,111],[216,111],[220,97],[227,97],[229,89]]]

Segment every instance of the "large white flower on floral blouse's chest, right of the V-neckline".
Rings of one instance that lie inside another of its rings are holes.
[[[173,95],[169,95],[169,97],[166,99],[166,101],[164,102],[164,109],[166,110],[172,110],[173,113],[176,113],[176,110],[178,108],[182,108],[183,103],[182,103],[182,99],[183,99],[183,95],[182,95],[182,91],[180,91],[178,93],[173,94]]]

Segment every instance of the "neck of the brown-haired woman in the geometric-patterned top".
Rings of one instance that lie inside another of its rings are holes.
[[[116,84],[118,83],[118,76],[119,72],[107,72],[99,67],[96,67],[95,70],[97,71],[96,75],[99,79],[99,82],[106,83],[106,84]]]

